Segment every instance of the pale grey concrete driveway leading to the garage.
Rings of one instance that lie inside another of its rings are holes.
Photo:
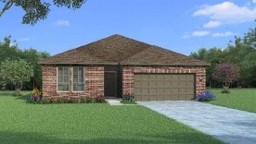
[[[256,114],[203,102],[138,102],[231,144],[256,144]]]

